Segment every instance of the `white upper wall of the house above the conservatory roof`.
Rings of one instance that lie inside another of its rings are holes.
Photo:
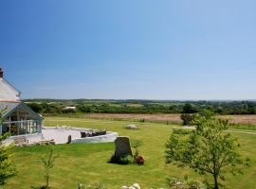
[[[13,87],[5,78],[0,77],[0,101],[19,101],[21,92]]]

